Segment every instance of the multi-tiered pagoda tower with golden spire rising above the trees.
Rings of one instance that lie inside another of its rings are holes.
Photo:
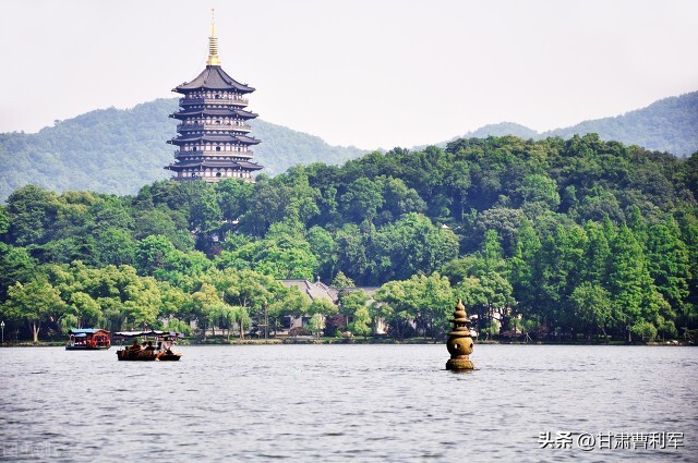
[[[262,166],[251,162],[252,145],[260,143],[250,137],[251,119],[257,117],[245,111],[245,95],[254,88],[229,76],[218,59],[216,26],[210,21],[208,60],[206,69],[193,81],[172,89],[183,95],[180,109],[170,118],[180,120],[179,135],[168,141],[179,149],[177,161],[165,169],[177,172],[174,180],[204,180],[218,182],[222,179],[252,180],[252,172]]]

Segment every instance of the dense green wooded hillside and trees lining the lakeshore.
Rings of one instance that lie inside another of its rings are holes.
[[[597,135],[457,139],[256,183],[158,181],[134,196],[14,191],[0,208],[5,333],[165,328],[689,339],[698,322],[698,153]],[[337,288],[312,303],[282,279]],[[11,334],[9,334],[11,336]]]

